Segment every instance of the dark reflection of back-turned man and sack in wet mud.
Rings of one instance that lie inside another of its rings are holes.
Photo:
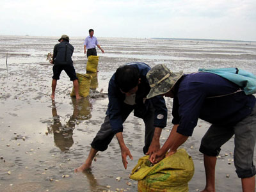
[[[73,114],[65,125],[61,124],[60,116],[57,113],[55,101],[52,100],[53,124],[48,127],[48,132],[53,133],[54,143],[61,151],[69,150],[74,144],[73,130],[81,120],[88,120],[92,117],[90,109],[92,105],[88,98],[76,100],[72,98]]]

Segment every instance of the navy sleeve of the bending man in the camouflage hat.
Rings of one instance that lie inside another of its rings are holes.
[[[184,136],[192,136],[200,115],[200,109],[205,100],[204,92],[200,89],[191,88],[188,91],[178,93],[177,100],[173,102],[173,124],[179,124],[177,132]],[[179,113],[179,115],[177,114]],[[179,121],[179,123],[178,123]]]

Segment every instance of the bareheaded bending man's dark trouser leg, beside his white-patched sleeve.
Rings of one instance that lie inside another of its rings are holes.
[[[148,148],[151,144],[152,138],[154,136],[154,107],[150,103],[148,106],[147,114],[143,118],[145,124],[145,146],[143,147],[143,153],[146,154],[148,152]]]

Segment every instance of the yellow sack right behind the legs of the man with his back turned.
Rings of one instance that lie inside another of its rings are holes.
[[[90,84],[92,76],[88,74],[76,74],[78,78],[78,84],[79,84],[79,95],[81,97],[87,97],[90,94]],[[73,87],[72,92],[70,93],[71,97],[76,97],[75,89]]]

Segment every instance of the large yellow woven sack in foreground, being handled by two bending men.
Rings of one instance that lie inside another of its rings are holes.
[[[188,192],[188,182],[193,175],[193,160],[181,148],[154,166],[150,165],[148,156],[141,157],[130,178],[138,180],[139,192]]]

